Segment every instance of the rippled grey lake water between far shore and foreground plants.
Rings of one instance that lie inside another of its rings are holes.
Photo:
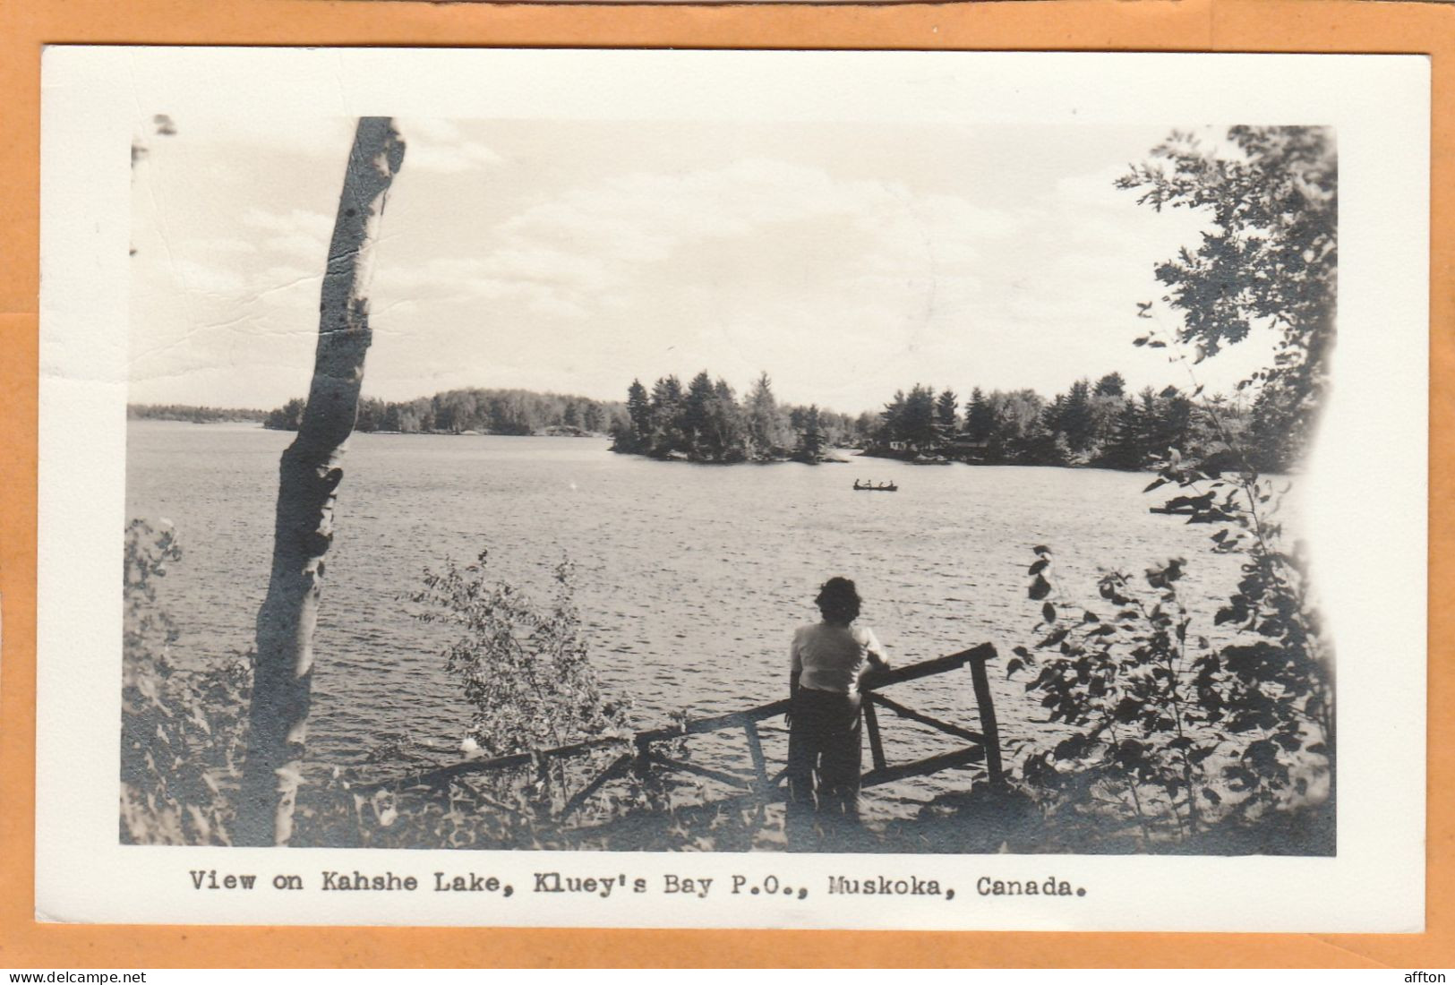
[[[292,435],[249,425],[128,425],[131,517],[170,521],[183,560],[160,585],[182,662],[246,650],[266,591],[278,457]],[[893,480],[863,493],[856,479]],[[444,672],[439,627],[400,595],[426,566],[490,551],[496,576],[544,599],[551,567],[576,563],[578,605],[594,662],[629,691],[642,727],[672,711],[730,711],[787,694],[794,627],[815,621],[831,575],[858,583],[861,623],[895,663],[982,642],[1007,743],[1046,735],[1020,679],[1016,645],[1035,642],[1026,597],[1032,547],[1055,551],[1067,604],[1100,604],[1099,570],[1141,572],[1173,556],[1195,630],[1237,581],[1237,559],[1206,550],[1206,527],[1148,512],[1147,476],[1101,470],[848,464],[694,466],[615,455],[604,439],[361,434],[339,489],[336,537],[316,636],[310,758],[356,762],[397,736],[455,748],[469,713]],[[899,685],[911,707],[978,727],[968,672]],[[947,751],[953,739],[880,714],[890,761]],[[742,743],[742,736],[736,736]],[[765,736],[781,762],[784,738]],[[745,755],[704,748],[703,761]],[[866,752],[867,762],[867,752]],[[869,796],[899,813],[965,774],[893,784]]]

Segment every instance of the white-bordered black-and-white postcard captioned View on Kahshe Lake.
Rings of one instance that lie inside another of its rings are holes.
[[[1429,97],[51,48],[38,918],[1419,931]]]

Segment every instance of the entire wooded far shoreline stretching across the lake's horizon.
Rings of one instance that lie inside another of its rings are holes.
[[[915,383],[877,413],[840,413],[780,403],[767,372],[739,399],[704,370],[685,386],[640,380],[627,400],[469,387],[432,397],[364,397],[355,431],[393,434],[570,435],[607,434],[611,450],[695,463],[841,461],[837,450],[912,463],[1061,466],[1117,470],[1154,467],[1168,448],[1192,450],[1228,468],[1283,471],[1296,458],[1289,434],[1264,399],[1251,404],[1177,387],[1129,393],[1120,372],[1077,380],[1051,399],[1032,388],[970,390]],[[147,420],[260,422],[297,431],[304,402],[272,410],[191,404],[128,404]],[[1237,448],[1237,454],[1232,452]]]

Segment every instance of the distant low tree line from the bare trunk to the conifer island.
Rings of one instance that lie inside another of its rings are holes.
[[[268,412],[263,426],[297,431],[303,407],[304,402],[295,397]],[[586,435],[608,431],[613,420],[624,415],[623,404],[614,400],[467,387],[399,403],[362,397],[354,429],[399,434]]]

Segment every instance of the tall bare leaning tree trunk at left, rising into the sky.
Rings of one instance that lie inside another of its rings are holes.
[[[333,540],[333,498],[358,418],[371,339],[368,281],[388,186],[404,143],[388,116],[364,116],[354,135],[333,221],[319,308],[313,384],[298,436],[278,468],[272,575],[258,611],[258,659],[247,758],[234,844],[285,845],[303,768],[323,556]]]

